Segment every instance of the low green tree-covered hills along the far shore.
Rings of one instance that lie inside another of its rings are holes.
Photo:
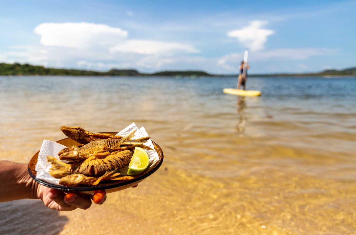
[[[66,68],[46,68],[44,66],[34,66],[27,63],[0,63],[0,75],[61,75],[61,76],[237,76],[234,75],[214,75],[204,71],[162,71],[155,73],[140,73],[137,70],[112,69],[108,72],[91,70],[77,70]],[[317,73],[278,73],[278,74],[254,74],[256,76],[356,76],[356,67],[344,70],[324,70]]]

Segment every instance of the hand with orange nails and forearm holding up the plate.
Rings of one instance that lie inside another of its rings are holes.
[[[27,164],[0,160],[0,185],[3,189],[0,202],[18,199],[40,199],[53,210],[88,209],[91,199],[87,195],[74,193],[65,194],[63,191],[40,185],[27,172]],[[94,203],[102,204],[106,200],[105,193],[93,196]]]

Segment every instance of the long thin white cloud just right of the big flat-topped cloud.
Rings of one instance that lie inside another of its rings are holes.
[[[126,42],[110,48],[110,52],[134,52],[139,54],[161,54],[174,51],[198,52],[190,45],[177,42],[162,42],[150,40],[127,40]]]

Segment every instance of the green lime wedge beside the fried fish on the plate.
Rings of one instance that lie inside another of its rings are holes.
[[[148,157],[145,149],[140,147],[135,147],[131,161],[129,163],[128,175],[137,175],[142,173],[148,167],[150,163],[150,158]]]

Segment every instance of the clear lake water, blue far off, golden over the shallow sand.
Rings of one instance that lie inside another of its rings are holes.
[[[28,162],[43,139],[64,137],[62,125],[115,132],[132,122],[164,152],[137,188],[89,210],[1,203],[0,233],[354,233],[356,79],[251,77],[261,97],[222,92],[236,82],[0,77],[0,159]]]

